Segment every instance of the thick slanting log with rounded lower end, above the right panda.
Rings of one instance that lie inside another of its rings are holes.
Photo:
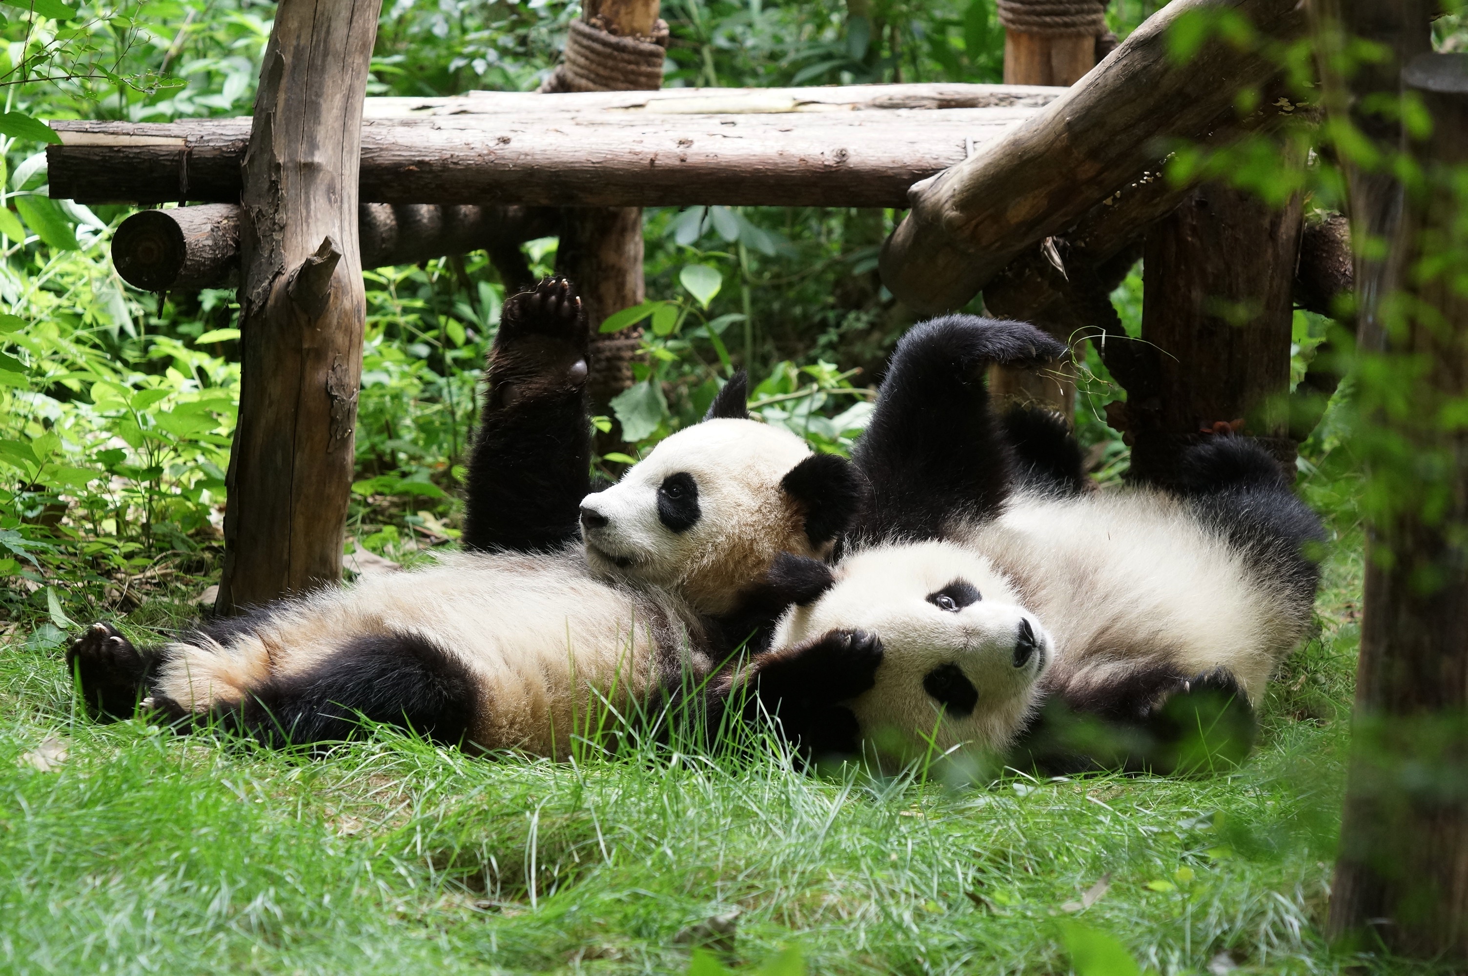
[[[925,313],[957,308],[1026,247],[1148,169],[1160,142],[1207,138],[1239,90],[1277,66],[1221,40],[1174,63],[1169,28],[1205,7],[1233,10],[1270,38],[1292,40],[1305,28],[1296,0],[1173,0],[1082,84],[912,188],[912,213],[882,248],[887,288]]]

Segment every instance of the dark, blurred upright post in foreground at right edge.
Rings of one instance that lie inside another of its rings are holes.
[[[1427,16],[1417,21],[1422,37],[1427,25]],[[1395,953],[1461,963],[1468,958],[1468,431],[1445,418],[1468,396],[1468,294],[1453,280],[1461,263],[1440,261],[1468,247],[1461,223],[1468,57],[1418,54],[1402,78],[1433,132],[1412,145],[1425,185],[1406,194],[1392,252],[1376,263],[1405,272],[1402,291],[1358,299],[1386,339],[1378,365],[1395,367],[1398,380],[1387,390],[1398,402],[1368,414],[1370,433],[1395,445],[1396,456],[1378,454],[1371,470],[1378,500],[1327,931],[1340,938],[1370,929]],[[1362,176],[1351,183],[1353,211],[1356,192],[1381,182]]]

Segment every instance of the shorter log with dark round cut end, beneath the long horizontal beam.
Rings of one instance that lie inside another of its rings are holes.
[[[122,279],[150,292],[238,285],[236,204],[141,210],[117,226],[112,263]],[[446,254],[490,251],[506,286],[530,272],[512,257],[521,242],[556,232],[556,213],[531,207],[361,204],[357,235],[363,267],[417,264]]]

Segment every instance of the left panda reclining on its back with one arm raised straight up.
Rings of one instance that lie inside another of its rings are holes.
[[[66,656],[90,710],[141,703],[181,726],[219,721],[291,744],[345,738],[361,715],[562,757],[608,710],[712,672],[802,599],[799,572],[766,571],[777,553],[819,565],[860,483],[843,458],[750,420],[738,377],[702,423],[586,493],[587,343],[568,282],[506,302],[470,465],[470,552],[156,649],[95,624]]]

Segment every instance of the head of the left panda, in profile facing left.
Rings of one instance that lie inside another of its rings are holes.
[[[860,498],[850,462],[749,418],[740,371],[702,423],[581,502],[592,569],[725,613],[781,552],[825,556]]]

